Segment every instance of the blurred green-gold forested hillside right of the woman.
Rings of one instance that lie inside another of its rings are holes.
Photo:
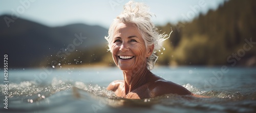
[[[173,34],[159,64],[255,65],[256,1],[231,0],[192,21],[159,26]],[[250,43],[248,43],[250,42]]]

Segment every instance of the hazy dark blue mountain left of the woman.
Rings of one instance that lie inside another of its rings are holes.
[[[0,16],[7,17],[12,18]],[[100,26],[73,24],[52,28],[22,18],[13,20],[9,27],[5,19],[0,20],[0,55],[4,59],[4,54],[8,54],[9,67],[44,66],[42,61],[51,56],[68,56],[106,45],[104,36],[108,29]]]

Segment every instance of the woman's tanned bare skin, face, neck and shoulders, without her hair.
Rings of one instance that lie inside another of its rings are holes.
[[[154,45],[145,46],[136,25],[117,25],[111,45],[114,62],[123,71],[124,77],[124,80],[113,81],[106,88],[115,92],[116,96],[144,99],[164,94],[194,95],[183,86],[164,80],[147,69],[146,59],[153,53]]]

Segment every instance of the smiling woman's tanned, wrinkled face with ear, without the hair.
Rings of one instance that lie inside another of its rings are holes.
[[[146,66],[146,58],[154,49],[154,46],[146,49],[145,42],[134,24],[118,24],[111,43],[114,62],[123,71]]]

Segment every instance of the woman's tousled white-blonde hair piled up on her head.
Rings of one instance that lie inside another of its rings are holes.
[[[111,44],[114,38],[114,32],[116,26],[120,23],[124,24],[135,24],[141,34],[146,49],[154,44],[154,50],[150,57],[147,58],[147,69],[152,70],[154,68],[155,62],[158,56],[155,55],[162,47],[163,41],[168,38],[168,35],[159,34],[157,28],[151,21],[153,13],[149,12],[150,8],[143,3],[130,1],[123,6],[123,12],[117,16],[112,22],[109,28],[109,36],[105,37],[108,41],[108,46],[110,52],[112,52]]]

